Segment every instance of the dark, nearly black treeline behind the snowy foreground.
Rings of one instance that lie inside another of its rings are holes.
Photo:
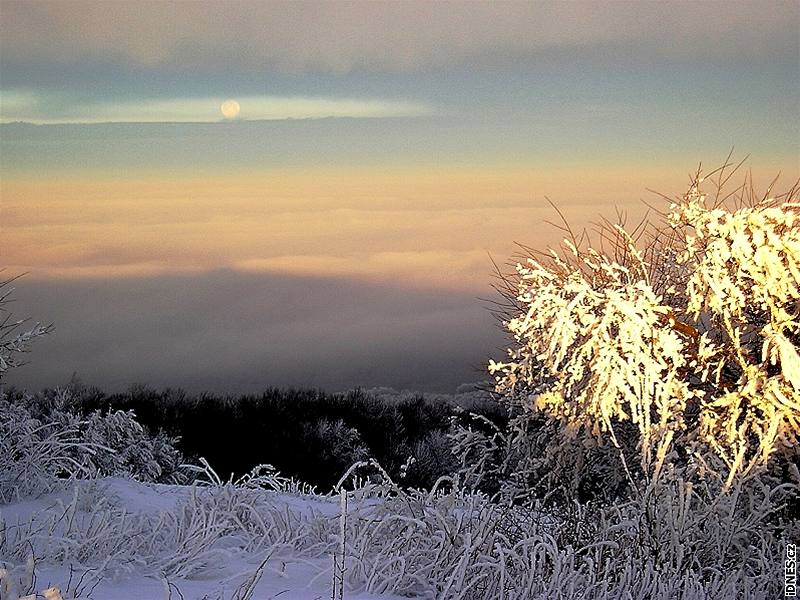
[[[409,457],[415,461],[405,485],[429,487],[452,472],[447,437],[451,417],[481,414],[502,425],[503,407],[478,393],[456,396],[353,390],[326,393],[309,389],[266,389],[260,395],[191,394],[180,389],[135,386],[108,394],[77,383],[70,393],[44,390],[43,406],[89,415],[100,410],[133,410],[151,433],[176,437],[188,461],[204,457],[220,474],[240,476],[258,464],[273,465],[327,491],[355,461],[374,458],[394,478]],[[7,397],[22,398],[8,390]]]

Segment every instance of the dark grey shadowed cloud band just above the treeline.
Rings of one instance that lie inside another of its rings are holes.
[[[453,392],[486,379],[502,336],[470,294],[217,271],[17,282],[15,310],[54,322],[9,382],[257,392],[355,386]]]

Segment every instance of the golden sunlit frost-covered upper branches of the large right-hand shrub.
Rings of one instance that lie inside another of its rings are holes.
[[[800,189],[724,194],[730,170],[714,174],[658,223],[604,222],[594,246],[571,235],[518,263],[514,344],[489,368],[523,420],[568,444],[611,448],[650,480],[680,464],[729,487],[797,456]]]

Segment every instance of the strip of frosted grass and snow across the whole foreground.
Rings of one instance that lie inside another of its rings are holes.
[[[27,593],[33,571],[64,598],[330,598],[337,554],[345,598],[760,598],[780,581],[767,488],[703,504],[676,483],[644,509],[560,512],[452,480],[406,491],[353,476],[340,491],[344,513],[335,494],[73,480],[0,509],[4,585]]]

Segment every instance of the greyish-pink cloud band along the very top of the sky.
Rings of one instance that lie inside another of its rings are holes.
[[[3,3],[5,61],[414,71],[556,50],[675,61],[796,58],[795,2]],[[598,52],[598,49],[601,50]],[[539,56],[541,58],[541,56]]]

